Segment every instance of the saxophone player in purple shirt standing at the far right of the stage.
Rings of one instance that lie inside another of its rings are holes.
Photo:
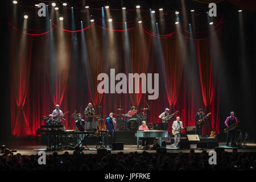
[[[234,123],[237,123],[237,117],[234,116],[234,111],[230,112],[230,116],[226,118],[225,126],[229,127],[230,125],[233,125]],[[229,141],[231,138],[231,147],[236,147],[236,138],[237,138],[237,129],[233,129],[228,131],[226,135],[226,146],[229,146]]]

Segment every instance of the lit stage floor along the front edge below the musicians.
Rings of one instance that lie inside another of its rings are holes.
[[[45,151],[46,146],[40,141],[36,139],[15,139],[12,140],[12,142],[5,143],[6,148],[9,148],[10,150],[17,150],[22,155],[36,155],[38,154],[39,151]],[[84,154],[97,154],[97,149],[96,149],[96,144],[94,145],[88,145],[90,150],[83,150]],[[227,152],[232,152],[233,148],[232,147],[226,147],[224,142],[219,142],[219,147],[224,147],[225,151]],[[167,144],[166,146],[167,152],[168,153],[179,153],[179,152],[184,152],[188,153],[190,149],[177,149],[177,148],[172,148],[170,144]],[[194,149],[195,152],[199,153],[202,151],[200,148],[196,148],[196,144],[191,144],[191,149]],[[109,150],[109,149],[108,149]],[[207,152],[214,150],[213,148],[211,149],[204,149],[207,150]],[[60,150],[57,151],[58,154],[63,154],[65,151],[68,151],[69,154],[73,154],[73,150]],[[115,150],[111,151],[112,154],[117,154],[118,152],[122,151],[125,154],[128,154],[129,152],[135,152],[137,151],[138,153],[142,153],[143,150],[138,149],[137,145],[133,144],[126,144],[123,146],[123,150]],[[238,152],[256,152],[256,143],[253,142],[248,142],[245,148],[237,148]],[[14,154],[16,154],[15,152]],[[52,154],[53,151],[46,151],[46,154]],[[156,152],[155,150],[147,150],[149,153],[154,153]],[[2,154],[0,154],[1,156]]]

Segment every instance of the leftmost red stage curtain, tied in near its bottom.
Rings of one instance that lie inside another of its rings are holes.
[[[31,135],[24,111],[28,81],[31,71],[32,37],[11,31],[10,36],[10,82],[11,82],[11,129],[17,137]]]

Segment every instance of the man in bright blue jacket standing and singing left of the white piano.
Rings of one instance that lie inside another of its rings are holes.
[[[113,113],[109,114],[109,117],[105,120],[105,130],[108,131],[106,135],[106,143],[110,148],[112,148],[115,125],[117,124],[115,118],[113,117]]]

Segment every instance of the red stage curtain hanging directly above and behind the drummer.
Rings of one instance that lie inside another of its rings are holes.
[[[130,32],[130,42],[131,42],[131,62],[130,65],[126,67],[126,73],[147,73],[148,59],[150,56],[152,37],[144,34],[140,27],[135,28],[135,30]],[[129,60],[126,60],[129,61]],[[129,62],[128,62],[129,64]],[[126,64],[127,65],[127,64]],[[127,81],[129,81],[127,75]],[[130,93],[131,103],[134,106],[138,106],[142,98],[142,84],[139,82],[139,93]],[[127,90],[128,92],[128,90]]]

